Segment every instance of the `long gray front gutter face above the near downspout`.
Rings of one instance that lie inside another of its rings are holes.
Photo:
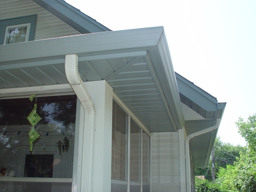
[[[68,54],[90,56],[107,53],[148,51],[155,47],[163,27],[108,31],[0,45],[0,65],[7,61],[44,57],[64,58]]]

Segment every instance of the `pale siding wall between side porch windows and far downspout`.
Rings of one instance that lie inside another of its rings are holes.
[[[179,133],[151,134],[152,192],[180,192]]]

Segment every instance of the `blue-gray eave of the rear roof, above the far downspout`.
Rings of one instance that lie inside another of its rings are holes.
[[[200,114],[203,117],[189,120],[185,118],[184,127],[187,136],[215,125],[216,119],[222,118],[226,103],[218,103],[217,99],[209,93],[179,74],[176,73],[175,75],[180,93],[180,101],[187,107],[185,110],[192,109],[194,111],[192,113]],[[195,168],[207,166],[217,133],[218,128],[190,140],[190,154]]]

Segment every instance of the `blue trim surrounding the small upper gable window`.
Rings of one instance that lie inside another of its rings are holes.
[[[25,17],[0,20],[0,45],[4,44],[6,27],[24,25],[27,23],[30,23],[30,29],[28,31],[28,41],[33,41],[36,31],[36,18],[37,15],[29,15]]]

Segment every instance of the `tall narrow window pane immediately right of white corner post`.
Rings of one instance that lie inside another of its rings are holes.
[[[111,179],[127,181],[127,116],[113,101]]]

